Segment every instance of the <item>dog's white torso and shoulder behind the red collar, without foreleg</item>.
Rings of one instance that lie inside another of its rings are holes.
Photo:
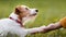
[[[11,34],[20,36],[25,36],[28,33],[24,27],[21,27],[19,23],[10,18],[0,20],[0,27],[2,27],[1,30],[6,30],[7,33],[10,32]]]

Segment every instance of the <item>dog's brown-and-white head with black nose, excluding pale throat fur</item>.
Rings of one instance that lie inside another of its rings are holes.
[[[37,9],[30,9],[26,5],[18,5],[15,8],[15,14],[20,15],[20,17],[35,16],[37,12]]]

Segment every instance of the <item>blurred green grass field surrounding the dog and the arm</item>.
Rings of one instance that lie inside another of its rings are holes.
[[[29,23],[25,26],[28,28],[48,25],[66,16],[66,0],[0,0],[0,18],[8,17],[19,4],[40,10],[34,23]],[[46,34],[28,35],[26,37],[66,37],[66,29],[61,28]]]

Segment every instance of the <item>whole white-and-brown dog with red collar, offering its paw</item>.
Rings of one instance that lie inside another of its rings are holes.
[[[24,25],[30,20],[36,17],[38,10],[30,9],[26,5],[16,5],[8,18],[0,20],[0,36],[7,36],[8,33],[25,37],[28,34],[44,30],[45,26],[25,28]]]

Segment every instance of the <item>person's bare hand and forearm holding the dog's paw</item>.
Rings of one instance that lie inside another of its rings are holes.
[[[57,22],[57,23],[52,23],[52,24],[47,25],[46,28],[44,28],[43,33],[47,33],[47,32],[51,32],[51,30],[55,30],[55,29],[58,29],[58,28],[61,28],[61,27],[62,27],[62,25],[61,25],[59,22]]]

